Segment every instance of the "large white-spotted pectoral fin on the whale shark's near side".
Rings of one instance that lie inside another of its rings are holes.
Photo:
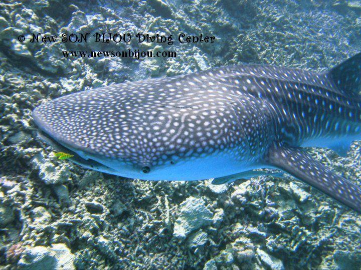
[[[303,148],[274,145],[265,161],[361,213],[361,188],[326,168]]]

